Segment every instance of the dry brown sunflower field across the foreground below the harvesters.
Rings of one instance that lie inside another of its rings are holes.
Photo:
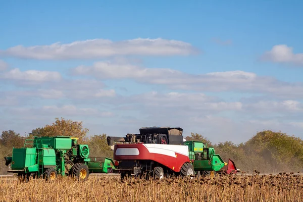
[[[91,175],[86,182],[0,178],[1,201],[303,201],[302,175],[279,173],[145,180]]]

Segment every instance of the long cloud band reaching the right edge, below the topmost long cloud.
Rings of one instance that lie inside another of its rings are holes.
[[[92,66],[76,67],[72,72],[75,75],[89,75],[99,79],[133,79],[139,83],[162,84],[173,90],[266,93],[290,99],[303,97],[301,82],[283,82],[244,71],[196,75],[168,68],[143,68],[127,63],[96,62]]]

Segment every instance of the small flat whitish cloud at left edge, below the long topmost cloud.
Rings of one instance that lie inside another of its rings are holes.
[[[12,69],[8,72],[4,72],[1,77],[5,79],[21,80],[29,82],[47,82],[47,81],[59,81],[61,74],[59,72],[51,71],[38,71],[38,70],[27,70],[20,71],[19,69]]]

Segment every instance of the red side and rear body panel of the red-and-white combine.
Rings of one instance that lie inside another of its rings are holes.
[[[163,145],[163,144],[162,144]],[[139,154],[136,155],[116,155],[118,148],[137,148]],[[170,152],[172,152],[170,150]],[[165,154],[150,153],[148,148],[144,144],[115,144],[114,147],[114,160],[151,160],[158,162],[175,172],[180,172],[182,165],[185,162],[189,162],[189,157],[173,151],[176,157],[172,157]]]

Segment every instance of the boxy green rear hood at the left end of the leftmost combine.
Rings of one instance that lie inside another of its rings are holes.
[[[37,164],[36,148],[13,148],[12,170],[25,170]]]

